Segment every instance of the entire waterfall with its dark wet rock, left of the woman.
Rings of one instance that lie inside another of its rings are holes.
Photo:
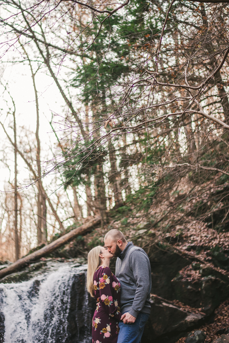
[[[0,284],[5,343],[89,343],[92,303],[86,266],[69,264],[21,283]],[[0,339],[1,341],[1,339]]]

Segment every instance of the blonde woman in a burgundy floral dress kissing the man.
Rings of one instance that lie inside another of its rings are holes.
[[[113,255],[103,247],[88,254],[87,291],[97,300],[92,319],[93,343],[117,343],[120,313],[120,283],[109,265]]]

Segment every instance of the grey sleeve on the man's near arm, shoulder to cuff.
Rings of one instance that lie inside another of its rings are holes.
[[[150,291],[150,264],[148,257],[141,250],[134,250],[130,256],[130,266],[133,271],[137,288],[135,291],[133,305],[129,313],[137,318],[138,313],[141,312],[145,305],[147,295]]]

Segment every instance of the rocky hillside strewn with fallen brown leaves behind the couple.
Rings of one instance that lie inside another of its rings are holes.
[[[184,166],[162,176],[157,191],[146,186],[110,211],[103,228],[78,236],[2,282],[26,280],[50,260],[85,263],[88,251],[103,245],[107,230],[117,228],[145,249],[151,263],[152,311],[143,342],[229,342],[227,178]],[[115,272],[115,260],[111,268]]]

